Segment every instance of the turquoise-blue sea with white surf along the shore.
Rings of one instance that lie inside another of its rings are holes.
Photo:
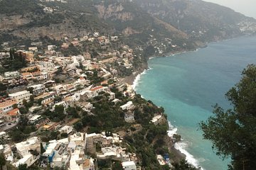
[[[256,37],[213,42],[208,47],[149,60],[149,68],[134,81],[134,89],[147,100],[163,106],[172,130],[182,136],[176,148],[188,162],[206,170],[227,169],[203,140],[198,123],[212,115],[219,103],[230,108],[225,93],[241,78],[247,64],[256,64]],[[227,134],[228,135],[228,134]]]

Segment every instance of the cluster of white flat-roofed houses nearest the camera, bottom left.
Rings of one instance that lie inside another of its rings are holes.
[[[105,132],[73,133],[72,126],[65,126],[60,131],[72,133],[72,135],[49,142],[31,137],[14,145],[0,145],[0,151],[4,153],[6,160],[16,167],[21,164],[31,166],[36,161],[40,161],[41,167],[50,164],[51,168],[58,166],[67,167],[70,170],[94,170],[95,159],[88,156],[87,153],[90,153],[97,155],[98,162],[111,158],[121,161],[124,169],[136,169],[138,162],[136,154],[129,153],[126,148],[118,146],[122,143],[119,135],[106,136]],[[100,150],[96,149],[96,145]]]

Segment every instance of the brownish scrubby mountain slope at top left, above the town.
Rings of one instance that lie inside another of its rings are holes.
[[[112,28],[95,16],[89,4],[45,2],[37,0],[0,1],[1,40],[60,40],[65,36],[87,35],[95,28],[110,32]]]

